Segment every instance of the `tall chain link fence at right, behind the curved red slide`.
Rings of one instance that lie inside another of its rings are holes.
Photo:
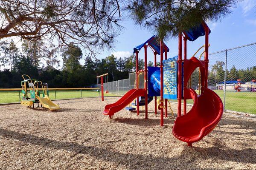
[[[256,43],[209,54],[208,86],[221,97],[226,111],[256,113],[255,79]],[[197,69],[191,88],[198,91],[198,84]]]

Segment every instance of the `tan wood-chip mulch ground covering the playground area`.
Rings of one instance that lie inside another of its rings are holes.
[[[256,170],[256,119],[224,114],[193,147],[172,135],[175,116],[160,127],[154,101],[148,119],[122,110],[109,119],[117,98],[55,101],[60,111],[0,106],[1,170]],[[176,104],[172,104],[176,113]]]

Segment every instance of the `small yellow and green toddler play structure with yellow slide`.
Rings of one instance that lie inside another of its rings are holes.
[[[48,85],[42,83],[36,79],[31,79],[28,75],[22,75],[23,81],[21,81],[21,93],[22,100],[20,104],[31,108],[34,103],[41,103],[41,107],[48,108],[49,110],[57,110],[60,107],[54,104],[49,98]],[[41,88],[39,88],[41,86]]]

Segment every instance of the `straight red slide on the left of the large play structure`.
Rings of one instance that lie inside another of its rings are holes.
[[[109,117],[111,118],[111,116],[113,116],[114,113],[125,108],[125,106],[129,105],[129,103],[131,103],[137,97],[145,96],[145,93],[146,91],[141,88],[131,89],[124,96],[122,96],[117,102],[110,105],[106,105],[103,111],[103,114],[109,115]]]

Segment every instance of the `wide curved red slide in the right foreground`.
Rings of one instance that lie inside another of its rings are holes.
[[[200,96],[191,88],[189,91],[194,105],[188,113],[177,117],[172,133],[177,139],[192,146],[193,142],[203,139],[217,126],[223,114],[223,103],[220,97],[208,88]]]

